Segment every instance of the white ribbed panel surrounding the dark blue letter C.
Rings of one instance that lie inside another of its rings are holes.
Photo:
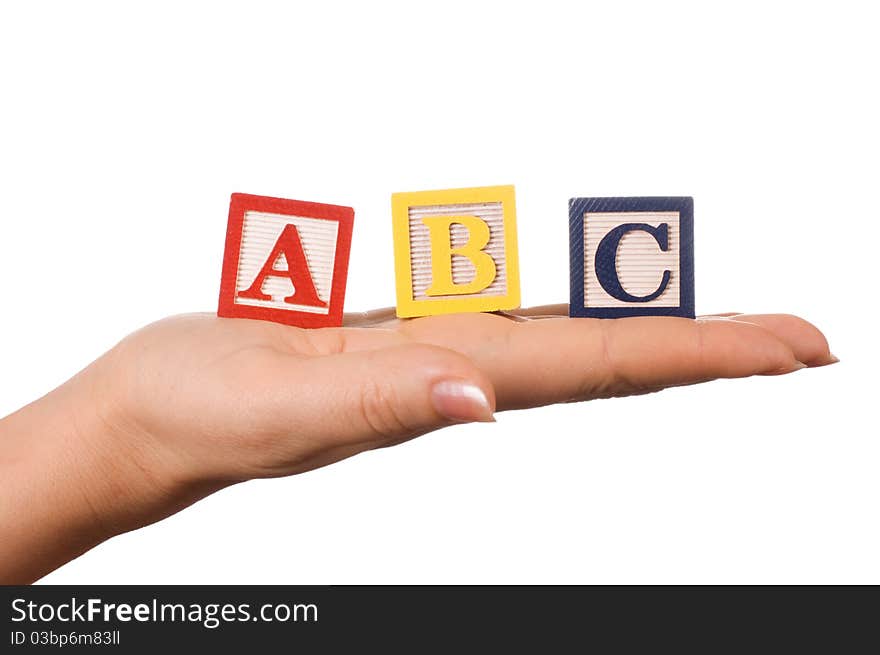
[[[660,287],[663,271],[669,284],[654,300],[631,303],[609,295],[596,276],[596,249],[611,230],[626,223],[669,226],[669,247],[660,250],[657,241],[643,230],[632,231],[620,240],[617,275],[623,289],[634,296],[647,296]],[[584,214],[584,307],[679,307],[681,292],[681,221],[678,212],[607,212]]]

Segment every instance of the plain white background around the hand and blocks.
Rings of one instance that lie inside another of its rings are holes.
[[[394,302],[394,191],[515,184],[526,305],[570,196],[692,195],[698,311],[842,359],[243,484],[47,582],[880,583],[871,5],[611,5],[3,4],[0,414],[214,310],[233,191],[355,207],[349,310]]]

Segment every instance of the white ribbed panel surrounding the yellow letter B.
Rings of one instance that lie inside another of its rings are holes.
[[[428,216],[477,216],[489,226],[489,243],[483,248],[495,260],[495,280],[486,289],[470,296],[507,295],[507,266],[504,243],[504,209],[500,202],[462,205],[431,205],[409,208],[410,266],[412,267],[413,300],[440,300],[444,298],[467,298],[459,296],[428,296],[431,287],[431,240],[428,227],[422,222]],[[464,246],[469,232],[463,225],[452,224],[452,247]],[[467,284],[474,279],[476,270],[468,257],[452,256],[452,281]]]

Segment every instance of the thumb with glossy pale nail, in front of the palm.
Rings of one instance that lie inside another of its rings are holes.
[[[290,395],[273,412],[283,431],[295,431],[297,449],[328,453],[306,468],[454,423],[494,420],[489,379],[464,355],[439,346],[316,357],[299,363],[285,387]]]

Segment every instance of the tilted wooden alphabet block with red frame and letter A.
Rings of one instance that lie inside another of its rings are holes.
[[[218,316],[342,325],[354,210],[232,194]]]

